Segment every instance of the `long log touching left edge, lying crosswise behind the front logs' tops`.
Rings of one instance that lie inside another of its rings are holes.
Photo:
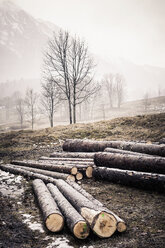
[[[38,178],[38,179],[43,180],[46,183],[56,183],[56,181],[57,181],[57,179],[55,179],[55,178],[53,178],[51,176],[46,176],[44,174],[40,174],[40,173],[37,173],[37,172],[32,172],[32,171],[29,171],[29,170],[26,170],[26,169],[22,169],[22,168],[19,168],[18,166],[14,166],[12,164],[5,164],[5,165],[0,164],[0,169],[2,169],[4,171],[7,171],[7,172],[11,172],[13,174],[20,174],[20,175],[23,175],[25,177],[29,177],[31,179]],[[72,175],[69,175],[69,176],[73,177]]]

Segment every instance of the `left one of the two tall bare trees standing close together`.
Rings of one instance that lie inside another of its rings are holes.
[[[69,39],[70,34],[68,32],[60,31],[58,34],[54,33],[53,38],[48,42],[48,49],[45,53],[43,74],[44,80],[50,80],[50,85],[52,85],[52,83],[56,85],[59,91],[62,92],[64,99],[67,99],[71,124],[71,82],[68,68],[70,48]]]

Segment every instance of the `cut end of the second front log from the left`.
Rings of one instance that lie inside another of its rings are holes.
[[[74,235],[78,239],[86,239],[89,235],[89,227],[85,221],[79,221],[76,223],[73,229]]]

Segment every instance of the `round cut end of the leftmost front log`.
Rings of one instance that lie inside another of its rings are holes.
[[[46,227],[51,232],[59,232],[64,226],[64,218],[60,214],[51,214],[46,219]]]

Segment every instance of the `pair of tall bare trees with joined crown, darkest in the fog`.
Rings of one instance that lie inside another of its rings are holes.
[[[76,123],[76,105],[95,90],[92,85],[93,61],[84,41],[72,38],[68,32],[54,33],[44,58],[44,79],[53,81],[68,101],[70,124]],[[73,118],[72,118],[73,115]]]

